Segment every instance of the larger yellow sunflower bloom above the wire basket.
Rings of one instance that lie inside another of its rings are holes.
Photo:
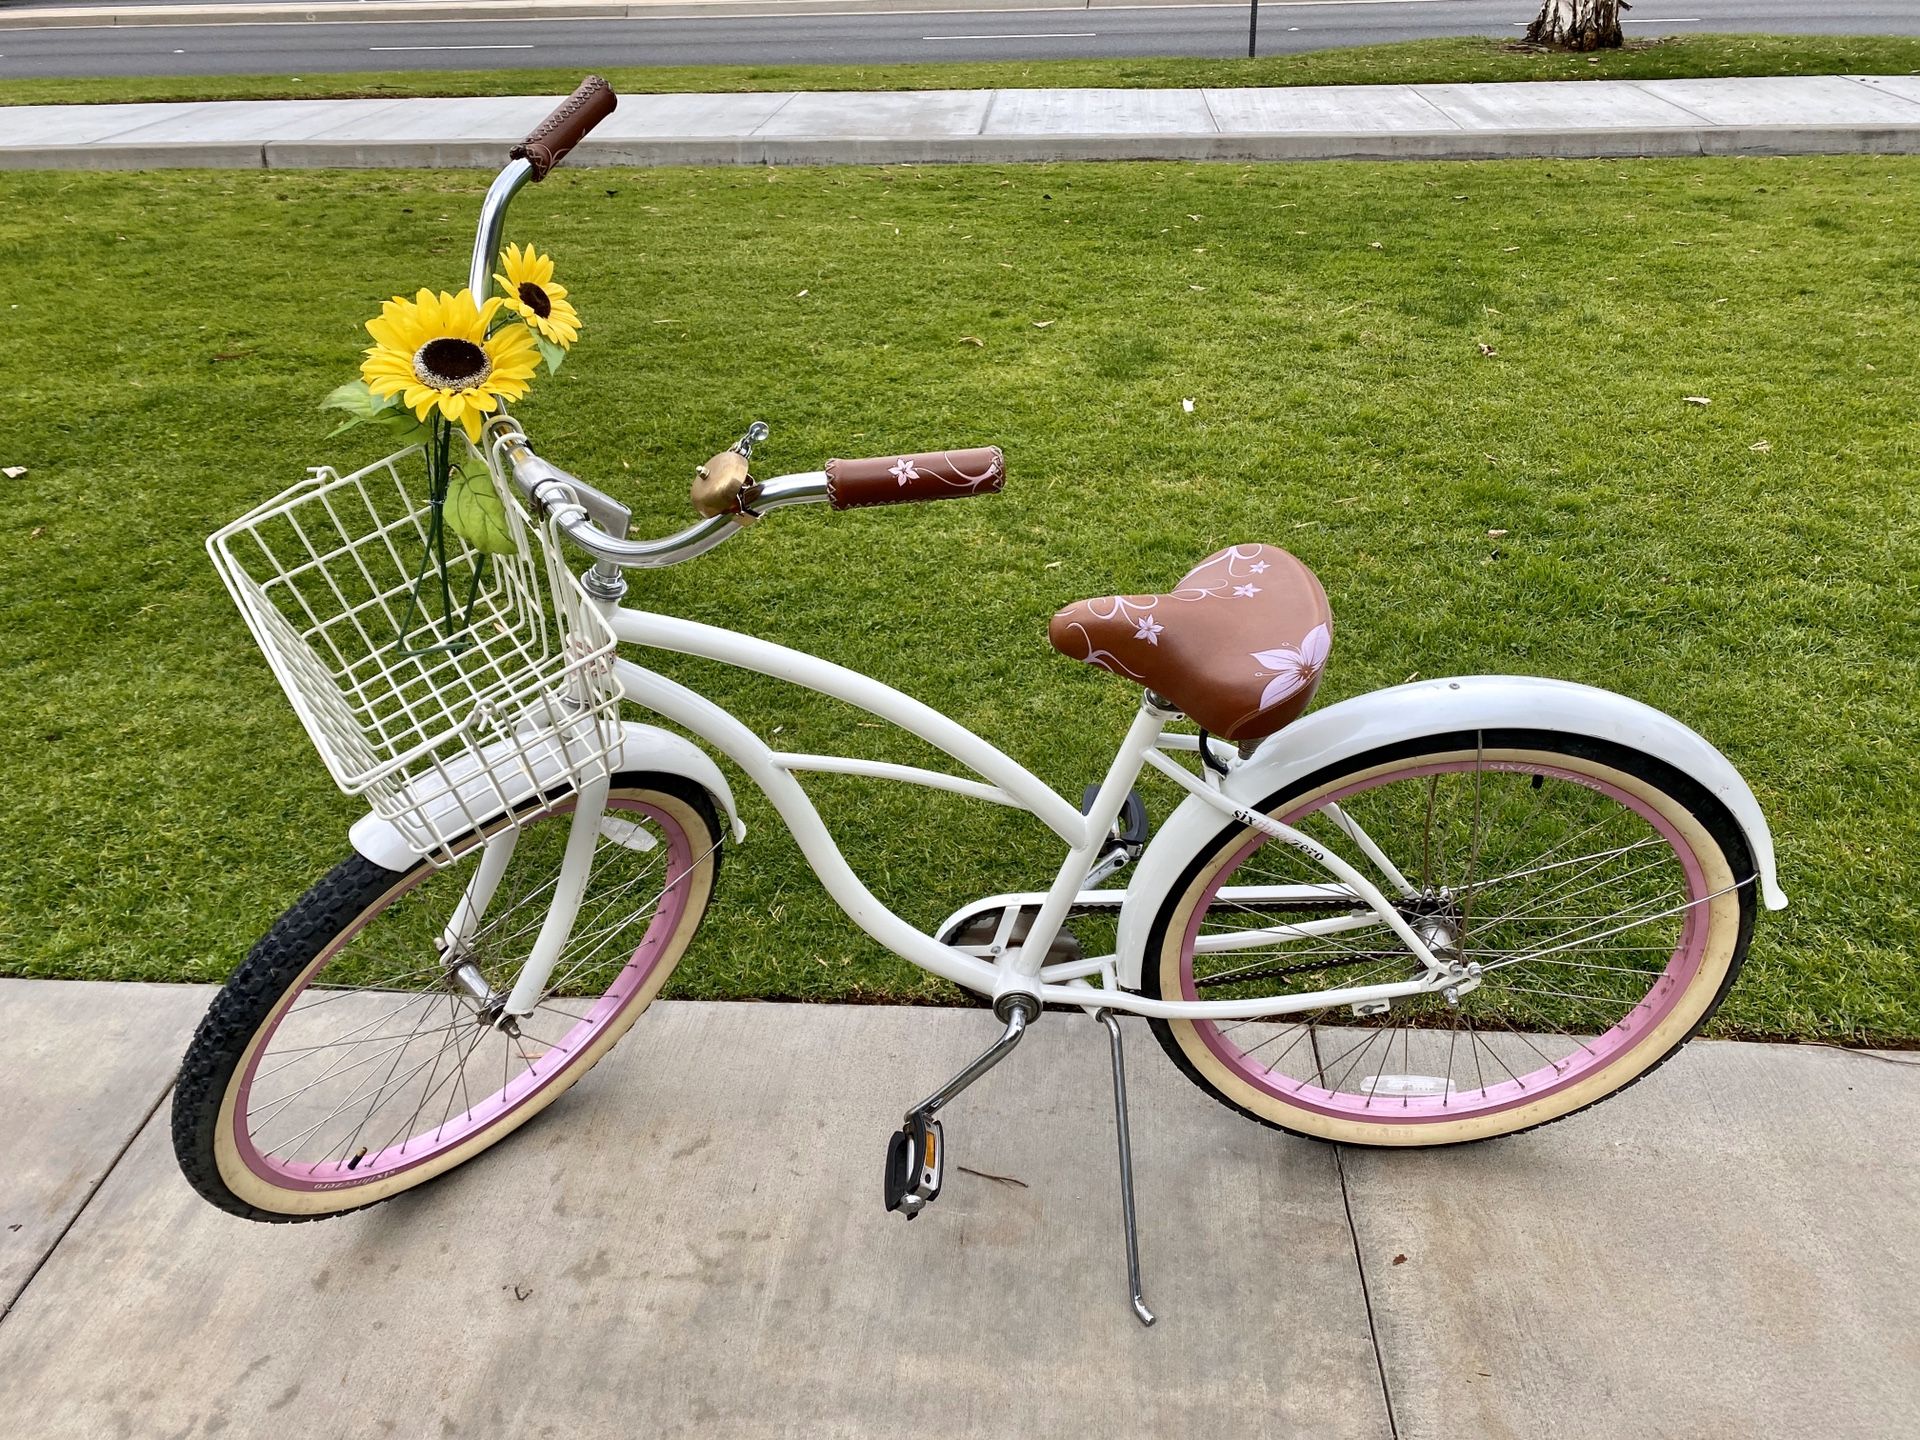
[[[374,344],[361,378],[376,396],[399,396],[424,420],[434,407],[480,440],[480,424],[503,399],[520,399],[534,378],[540,348],[518,324],[488,334],[499,300],[474,303],[470,290],[394,296],[367,321]]]

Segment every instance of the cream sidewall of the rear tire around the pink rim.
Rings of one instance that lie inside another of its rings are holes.
[[[1438,751],[1419,756],[1402,756],[1379,766],[1348,772],[1327,783],[1315,785],[1311,791],[1286,799],[1283,804],[1275,806],[1273,814],[1279,816],[1300,810],[1302,806],[1311,806],[1323,795],[1356,781],[1405,770],[1409,764],[1473,760],[1473,756],[1475,751]],[[1213,1054],[1190,1020],[1167,1021],[1167,1033],[1179,1044],[1187,1064],[1202,1075],[1204,1087],[1212,1089],[1229,1104],[1281,1125],[1283,1129],[1298,1131],[1300,1135],[1313,1135],[1323,1140],[1371,1146],[1461,1144],[1467,1140],[1486,1140],[1496,1135],[1511,1135],[1513,1131],[1532,1129],[1534,1125],[1546,1125],[1551,1119],[1559,1119],[1561,1116],[1569,1116],[1574,1110],[1590,1106],[1596,1100],[1632,1085],[1640,1079],[1640,1075],[1665,1060],[1693,1031],[1699,1020],[1713,1006],[1715,996],[1718,996],[1726,972],[1734,964],[1736,947],[1740,945],[1741,891],[1734,889],[1734,872],[1728,864],[1726,852],[1720,849],[1720,843],[1713,837],[1705,824],[1701,824],[1701,820],[1672,795],[1647,783],[1645,780],[1640,780],[1638,776],[1617,770],[1599,760],[1565,751],[1532,749],[1482,751],[1480,758],[1524,760],[1536,764],[1544,762],[1555,766],[1557,770],[1569,770],[1605,781],[1607,785],[1634,795],[1659,812],[1661,818],[1665,818],[1680,833],[1686,845],[1692,847],[1695,858],[1699,860],[1707,893],[1715,899],[1707,902],[1707,948],[1701,956],[1699,970],[1688,989],[1674,1002],[1672,1010],[1668,1010],[1661,1023],[1649,1029],[1638,1044],[1622,1050],[1617,1060],[1596,1069],[1592,1075],[1584,1075],[1574,1085],[1555,1091],[1553,1094],[1532,1104],[1494,1110],[1455,1121],[1379,1125],[1340,1116],[1325,1116],[1317,1110],[1290,1104],[1277,1094],[1258,1089],[1244,1075],[1231,1069],[1217,1054]],[[1187,935],[1187,927],[1192,922],[1194,906],[1200,902],[1200,895],[1208,889],[1213,877],[1219,876],[1219,872],[1233,860],[1238,851],[1238,841],[1244,835],[1244,829],[1223,835],[1217,841],[1215,858],[1210,860],[1198,876],[1194,876],[1185,893],[1175,900],[1162,929],[1162,947],[1156,960],[1160,995],[1181,993],[1181,945]]]

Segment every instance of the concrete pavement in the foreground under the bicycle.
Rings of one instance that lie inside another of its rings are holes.
[[[660,1004],[445,1181],[261,1227],[173,1167],[207,995],[0,981],[10,1440],[1920,1430],[1920,1068],[1707,1043],[1534,1135],[1336,1154],[1129,1023],[1142,1331],[1077,1018],[945,1116],[912,1225],[883,1139],[975,1010]]]

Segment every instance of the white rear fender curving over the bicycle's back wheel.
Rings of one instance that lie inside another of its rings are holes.
[[[1695,732],[1651,705],[1607,689],[1536,676],[1463,676],[1377,689],[1296,720],[1269,735],[1221,781],[1229,799],[1258,804],[1279,789],[1382,745],[1457,730],[1549,730],[1613,741],[1665,760],[1705,785],[1745,831],[1768,910],[1784,910],[1774,876],[1774,837],[1759,801],[1732,762]],[[1146,937],[1194,854],[1219,833],[1223,816],[1188,797],[1154,833],[1119,914],[1119,983],[1139,989]]]

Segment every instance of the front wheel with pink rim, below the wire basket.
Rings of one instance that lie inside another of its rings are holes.
[[[180,1064],[173,1146],[202,1196],[263,1221],[386,1200],[501,1140],[607,1054],[693,941],[722,831],[697,785],[614,776],[547,989],[503,1021],[572,812],[568,799],[476,837],[438,870],[353,856],[280,916]]]

